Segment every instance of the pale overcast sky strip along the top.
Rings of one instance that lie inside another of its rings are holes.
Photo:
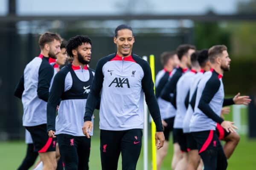
[[[209,9],[220,14],[232,14],[236,11],[238,1],[239,0],[17,0],[17,14],[120,14],[123,11],[153,14],[204,14]],[[0,15],[5,15],[6,13],[7,0],[0,0]]]

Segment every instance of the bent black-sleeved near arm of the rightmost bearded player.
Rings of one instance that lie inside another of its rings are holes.
[[[210,119],[221,124],[224,120],[218,116],[212,108],[209,106],[209,102],[212,100],[213,96],[217,93],[220,88],[221,82],[218,79],[212,79],[212,77],[207,81],[204,91],[202,93],[201,99],[199,100],[198,108]]]

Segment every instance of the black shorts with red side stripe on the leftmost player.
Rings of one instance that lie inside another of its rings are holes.
[[[44,153],[56,150],[55,138],[49,138],[46,124],[26,126],[26,129],[31,134],[35,146],[35,152]]]

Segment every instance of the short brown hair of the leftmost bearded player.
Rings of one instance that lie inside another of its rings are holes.
[[[38,44],[40,48],[43,49],[45,44],[54,40],[61,42],[61,36],[57,33],[45,32],[39,37]]]

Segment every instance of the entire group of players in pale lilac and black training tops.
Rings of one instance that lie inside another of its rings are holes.
[[[180,45],[177,52],[164,53],[155,95],[148,62],[132,53],[132,28],[118,26],[113,42],[116,53],[100,59],[94,71],[88,67],[89,37],[78,35],[66,43],[55,33],[41,35],[41,53],[26,65],[15,90],[23,103],[23,126],[33,142],[19,170],[32,166],[37,156],[32,151],[39,154],[43,170],[88,170],[95,109],[99,109],[102,170],[116,170],[120,153],[122,169],[135,170],[142,145],[143,94],[156,124],[158,169],[171,130],[173,169],[196,169],[200,156],[205,170],[226,169],[226,157],[239,136],[233,122],[221,118],[221,108],[250,103],[240,94],[224,99],[222,75],[230,64],[227,48],[216,45],[195,52],[192,45]],[[67,55],[73,61],[60,69]],[[222,138],[227,141],[224,152]]]

